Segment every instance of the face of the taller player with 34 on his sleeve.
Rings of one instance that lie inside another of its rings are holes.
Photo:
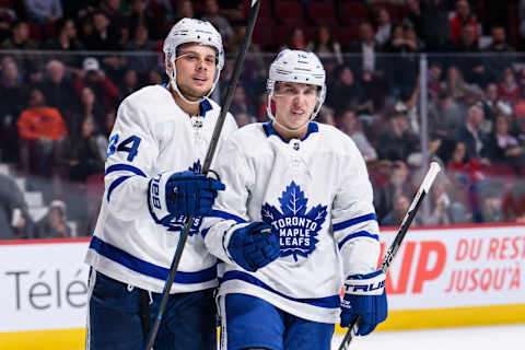
[[[180,93],[190,101],[200,100],[213,85],[217,69],[215,49],[200,44],[183,45],[175,67]]]

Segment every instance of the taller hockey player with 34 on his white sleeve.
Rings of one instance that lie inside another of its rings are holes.
[[[86,255],[88,349],[144,348],[189,215],[196,220],[154,349],[215,349],[217,258],[200,226],[224,185],[198,173],[220,114],[208,96],[224,66],[222,39],[209,22],[183,19],[164,52],[170,83],[128,96],[110,135],[103,203]],[[234,130],[229,114],[222,136]]]

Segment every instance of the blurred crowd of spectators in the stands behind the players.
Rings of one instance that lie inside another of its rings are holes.
[[[247,3],[0,1],[0,160],[54,203],[46,228],[59,229],[49,236],[71,234],[59,223],[66,207],[79,234],[90,234],[116,108],[141,86],[165,82],[161,47],[170,26],[191,16],[218,27],[228,54],[219,85],[225,92]],[[523,222],[524,23],[525,0],[262,1],[231,112],[240,126],[266,121],[275,51],[317,52],[328,78],[318,120],[354,140],[380,222],[397,225],[423,171],[419,54],[428,52],[427,156],[446,172],[430,212],[415,224]],[[13,236],[46,236],[20,196],[5,200]]]

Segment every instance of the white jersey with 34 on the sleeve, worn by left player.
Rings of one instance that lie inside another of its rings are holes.
[[[189,117],[164,85],[143,88],[119,106],[109,138],[105,192],[85,261],[116,280],[162,292],[185,218],[155,223],[148,207],[150,178],[165,171],[200,172],[220,107],[201,102]],[[222,139],[237,129],[228,114]],[[209,254],[195,220],[171,293],[212,288],[217,258]]]

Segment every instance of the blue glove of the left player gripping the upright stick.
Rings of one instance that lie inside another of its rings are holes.
[[[150,180],[150,208],[158,221],[166,215],[207,215],[224,188],[220,180],[191,171],[161,173]]]

